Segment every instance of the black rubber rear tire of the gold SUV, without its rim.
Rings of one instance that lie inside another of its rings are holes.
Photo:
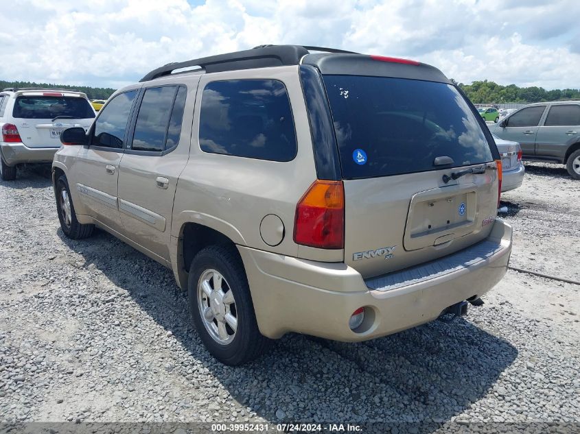
[[[218,343],[209,334],[198,304],[198,282],[208,270],[219,272],[235,298],[237,328],[233,340]],[[233,246],[211,245],[195,256],[189,268],[187,283],[189,313],[205,348],[218,361],[231,366],[242,365],[262,355],[270,339],[259,333],[248,279],[240,254]]]

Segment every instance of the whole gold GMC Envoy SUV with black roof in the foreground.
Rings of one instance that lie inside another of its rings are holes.
[[[60,140],[62,231],[170,267],[229,365],[288,332],[463,315],[507,269],[494,139],[427,64],[297,45],[167,64]]]

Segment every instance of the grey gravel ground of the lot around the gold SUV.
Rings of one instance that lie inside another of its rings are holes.
[[[511,264],[580,280],[580,182],[527,170],[503,196]],[[170,270],[101,231],[63,236],[45,172],[0,182],[0,231],[0,421],[580,427],[579,285],[510,270],[465,319],[356,344],[288,335],[232,368]]]

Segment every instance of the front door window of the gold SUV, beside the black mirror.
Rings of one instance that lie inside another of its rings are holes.
[[[101,114],[95,121],[95,134],[91,145],[123,147],[125,129],[135,95],[137,91],[119,93],[101,109]]]

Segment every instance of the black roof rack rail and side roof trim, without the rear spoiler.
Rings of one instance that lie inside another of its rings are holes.
[[[258,45],[253,49],[235,51],[233,53],[218,54],[206,58],[173,62],[154,69],[139,82],[148,82],[165,75],[170,75],[177,69],[200,67],[206,73],[233,71],[235,69],[253,69],[264,67],[282,67],[297,65],[301,58],[310,51],[325,51],[327,53],[353,53],[334,48],[310,47],[306,45]]]

